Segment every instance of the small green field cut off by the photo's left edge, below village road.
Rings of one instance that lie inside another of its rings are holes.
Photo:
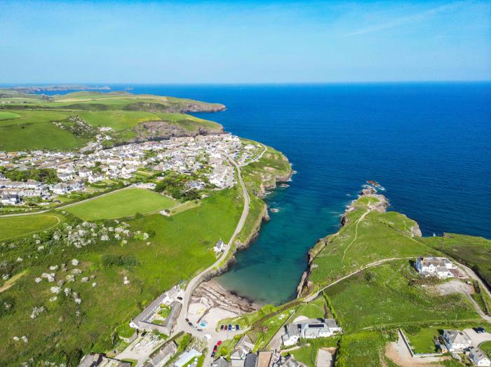
[[[0,217],[0,241],[46,230],[58,223],[60,223],[60,216],[55,214]]]

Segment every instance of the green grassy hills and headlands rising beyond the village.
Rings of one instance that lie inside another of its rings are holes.
[[[0,90],[0,150],[77,148],[95,139],[98,127],[114,130],[106,132],[113,143],[222,132],[220,124],[185,114],[222,109],[222,104],[128,92],[41,97]],[[159,124],[142,124],[147,121]]]

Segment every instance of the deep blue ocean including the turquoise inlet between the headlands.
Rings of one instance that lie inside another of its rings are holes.
[[[491,238],[491,83],[132,86],[226,104],[196,116],[292,162],[290,187],[266,198],[280,211],[219,278],[257,303],[295,296],[308,249],[337,231],[366,180],[424,235]]]

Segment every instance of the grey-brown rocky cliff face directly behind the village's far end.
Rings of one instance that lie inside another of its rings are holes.
[[[168,139],[170,137],[196,137],[197,135],[223,134],[222,125],[216,128],[208,126],[197,126],[192,130],[188,130],[178,123],[168,121],[145,121],[139,123],[134,128],[135,139],[137,141]]]

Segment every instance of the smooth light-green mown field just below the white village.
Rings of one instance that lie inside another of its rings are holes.
[[[67,207],[66,211],[85,221],[94,221],[155,212],[173,207],[175,204],[174,199],[154,191],[129,188],[75,204]]]

